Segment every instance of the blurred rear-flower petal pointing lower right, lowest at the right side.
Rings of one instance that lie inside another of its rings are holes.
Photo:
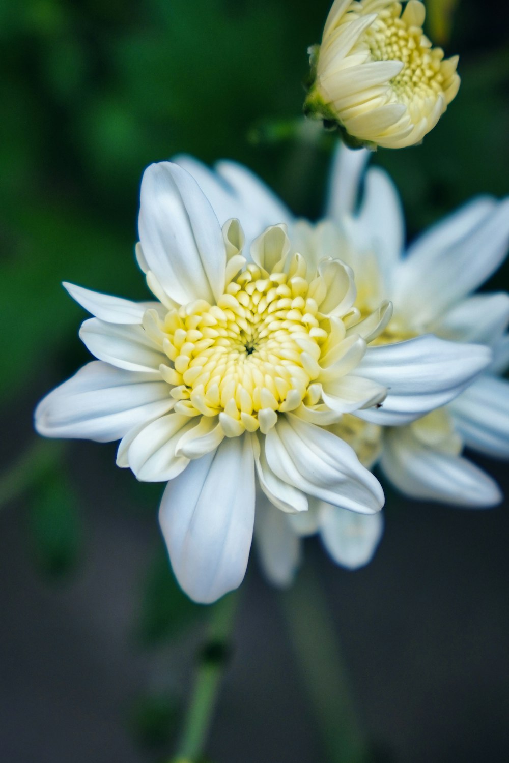
[[[411,498],[462,507],[490,507],[502,500],[498,485],[461,456],[424,446],[410,428],[385,435],[380,460],[385,475]]]

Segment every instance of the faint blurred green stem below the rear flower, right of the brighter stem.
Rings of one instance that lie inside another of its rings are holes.
[[[368,745],[354,710],[329,605],[311,564],[281,594],[281,603],[327,760],[366,763]]]

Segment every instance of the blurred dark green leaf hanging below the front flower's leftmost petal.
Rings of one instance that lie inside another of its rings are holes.
[[[74,565],[82,546],[78,501],[62,472],[53,472],[34,491],[28,523],[37,565],[50,575],[63,575]]]

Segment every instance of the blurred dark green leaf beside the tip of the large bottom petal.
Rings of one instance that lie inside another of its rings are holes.
[[[172,639],[206,612],[182,593],[161,542],[144,583],[137,636],[147,644]]]

